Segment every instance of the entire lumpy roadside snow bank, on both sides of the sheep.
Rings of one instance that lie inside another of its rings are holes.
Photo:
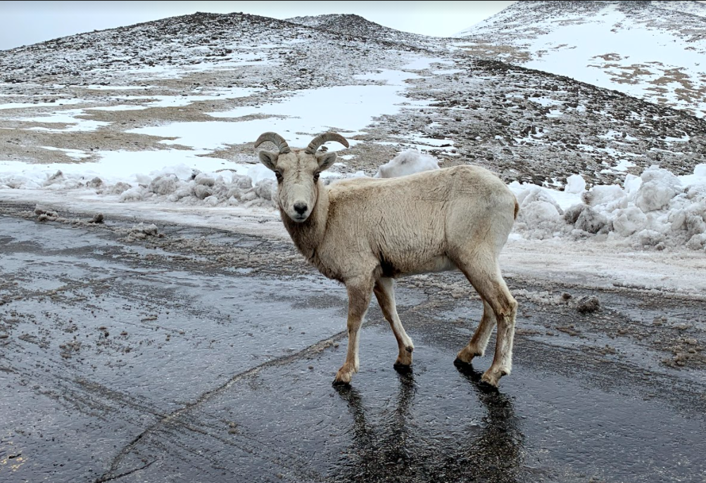
[[[236,206],[275,209],[277,183],[261,164],[198,171],[186,164],[126,178],[103,176],[77,164],[69,169],[23,169],[0,173],[0,189],[83,190],[116,202],[178,203],[200,207]],[[62,166],[63,167],[63,166]],[[429,154],[409,149],[378,169],[377,178],[407,176],[438,168]],[[109,171],[107,171],[109,172]],[[325,182],[338,177],[330,174]],[[365,176],[361,171],[349,177]],[[510,183],[520,204],[515,233],[530,240],[597,240],[635,248],[706,247],[706,164],[693,174],[675,176],[652,166],[641,176],[627,174],[622,186],[586,190],[583,178],[570,176],[563,192]],[[78,191],[80,192],[80,191]]]

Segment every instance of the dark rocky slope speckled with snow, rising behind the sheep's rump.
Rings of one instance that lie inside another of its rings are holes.
[[[460,72],[414,82],[410,97],[428,109],[405,111],[390,135],[447,140],[507,181],[561,186],[571,173],[614,183],[652,165],[690,173],[706,161],[706,122],[683,111],[571,78],[498,61],[457,59]],[[442,141],[443,142],[443,141]]]

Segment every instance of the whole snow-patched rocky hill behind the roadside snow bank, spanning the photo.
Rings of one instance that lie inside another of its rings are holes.
[[[409,147],[556,187],[575,173],[613,183],[651,164],[689,173],[705,162],[706,123],[667,103],[406,44],[366,21],[321,30],[351,20],[327,18],[198,13],[0,52],[0,161],[158,149],[170,163],[189,152],[255,163],[258,133],[287,126],[289,139],[345,133],[345,173],[373,174]]]

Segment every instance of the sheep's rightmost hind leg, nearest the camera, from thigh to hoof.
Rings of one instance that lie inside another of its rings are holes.
[[[493,362],[481,381],[498,386],[503,376],[510,374],[513,368],[513,338],[515,337],[515,316],[517,302],[508,290],[498,267],[496,257],[475,253],[473,257],[458,260],[457,267],[490,305],[498,324],[495,355]]]

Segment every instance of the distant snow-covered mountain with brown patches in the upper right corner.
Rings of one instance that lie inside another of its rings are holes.
[[[706,114],[697,1],[518,1],[457,36],[474,55]]]

